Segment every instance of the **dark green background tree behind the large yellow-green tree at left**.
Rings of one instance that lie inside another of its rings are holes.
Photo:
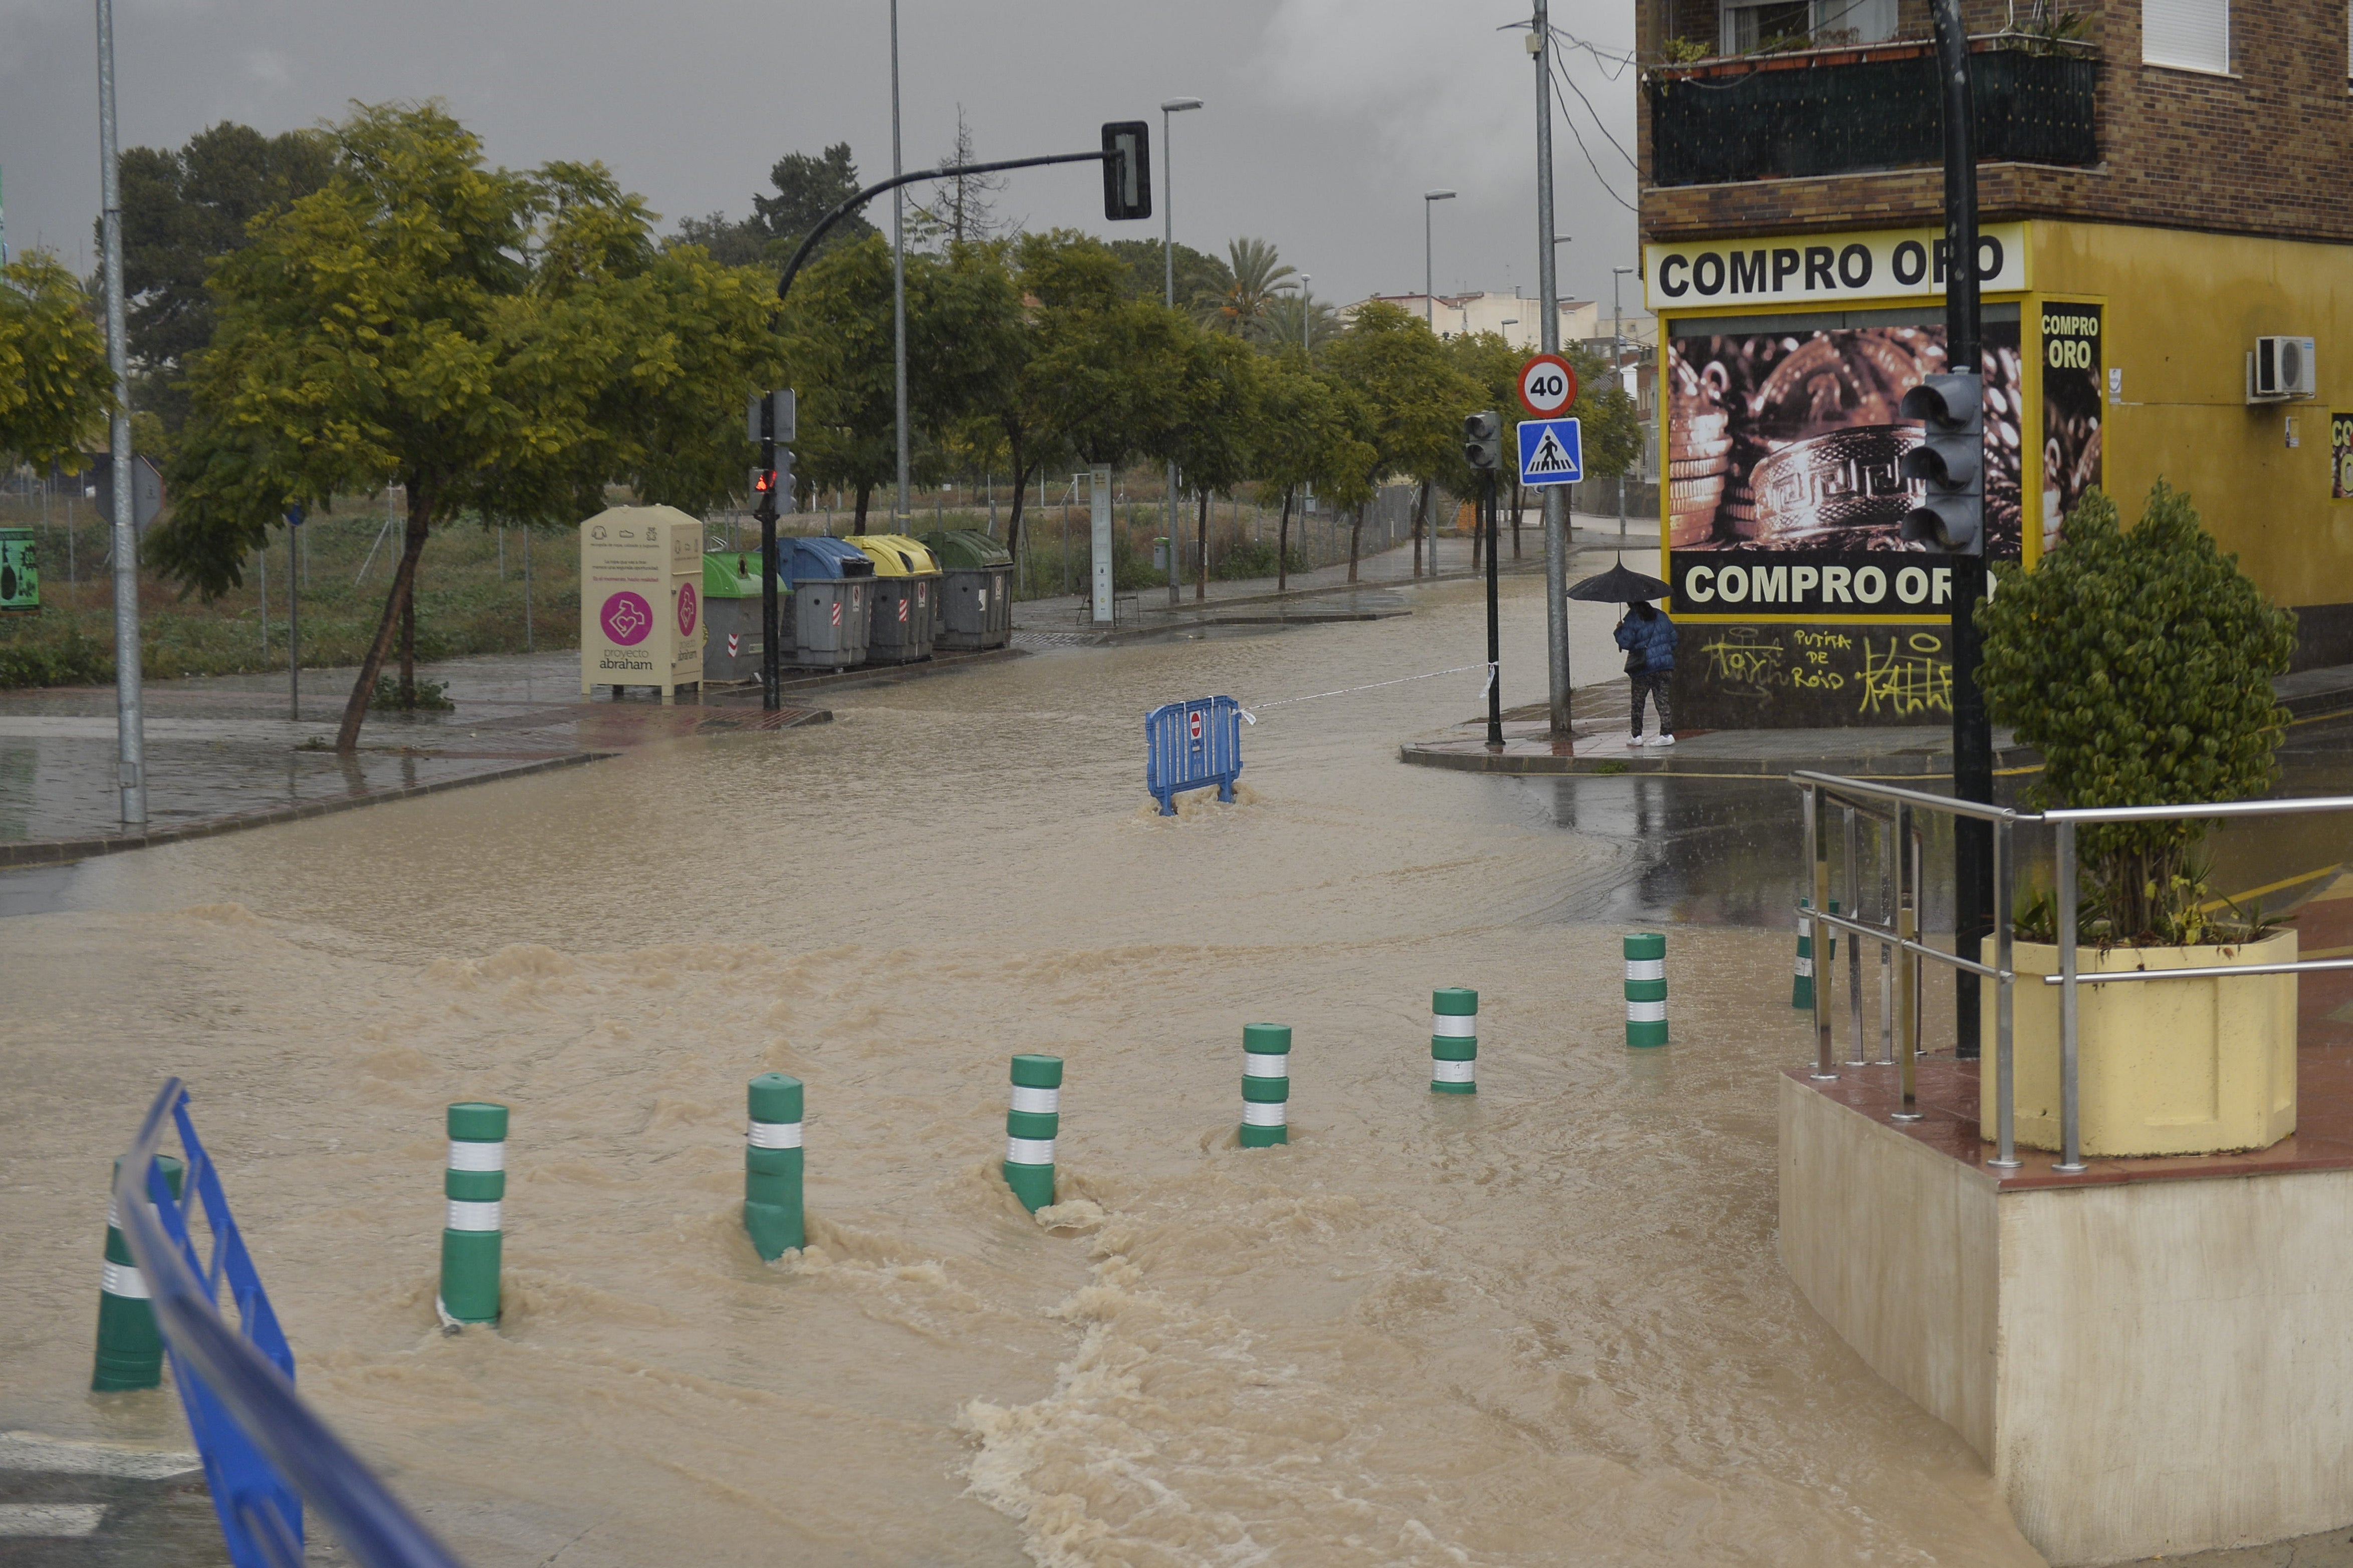
[[[167,435],[188,418],[186,362],[212,341],[205,277],[214,261],[245,247],[254,219],[325,186],[329,165],[318,132],[264,136],[233,120],[181,148],[125,148],[122,327],[134,400],[162,418]]]

